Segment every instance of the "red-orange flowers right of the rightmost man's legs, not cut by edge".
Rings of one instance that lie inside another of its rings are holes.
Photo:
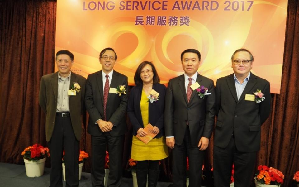
[[[255,176],[257,182],[266,185],[280,186],[284,179],[284,175],[281,171],[266,165],[259,165]]]

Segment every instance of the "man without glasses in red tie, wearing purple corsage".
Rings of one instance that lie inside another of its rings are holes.
[[[201,55],[187,49],[181,54],[184,74],[169,80],[165,95],[166,144],[173,149],[173,186],[186,185],[186,157],[189,158],[189,186],[201,186],[204,150],[214,127],[214,82],[197,73]]]

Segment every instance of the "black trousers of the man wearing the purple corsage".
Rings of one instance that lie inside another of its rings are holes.
[[[189,159],[189,186],[199,187],[202,181],[202,162],[204,151],[199,147],[192,147],[189,126],[186,129],[184,141],[181,145],[174,144],[173,149],[173,187],[186,186],[186,165]]]

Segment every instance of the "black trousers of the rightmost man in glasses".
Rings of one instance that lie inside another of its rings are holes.
[[[240,152],[231,137],[225,148],[214,146],[214,186],[229,187],[232,165],[234,164],[234,185],[249,187],[253,177],[256,152]]]

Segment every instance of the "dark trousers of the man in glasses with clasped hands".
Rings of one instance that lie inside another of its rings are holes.
[[[92,145],[92,168],[91,182],[93,187],[104,187],[105,177],[105,156],[108,145],[109,152],[109,177],[108,187],[121,186],[122,177],[122,151],[124,136],[112,137],[109,132],[104,132],[102,136],[91,136]]]

